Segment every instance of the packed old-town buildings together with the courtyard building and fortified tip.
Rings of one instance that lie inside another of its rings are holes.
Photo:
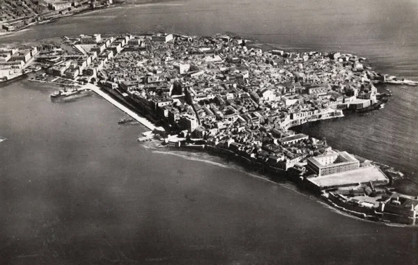
[[[292,169],[350,214],[415,223],[418,200],[387,195],[379,186],[389,179],[376,165],[289,130],[376,104],[373,81],[381,76],[364,61],[263,50],[229,36],[130,36],[98,73],[113,95],[173,135],[169,145],[211,147],[272,172]]]

